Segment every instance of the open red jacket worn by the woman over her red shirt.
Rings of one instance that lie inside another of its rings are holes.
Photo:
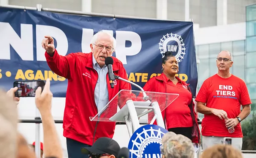
[[[156,77],[153,77],[150,80],[148,80],[148,83],[150,83],[150,84],[145,84],[143,89],[145,91],[148,91],[148,92],[166,93],[166,84],[164,83],[163,75],[164,74],[162,73],[160,76],[156,76]],[[189,89],[189,84],[187,84],[184,81],[181,81],[181,83],[184,86],[188,86],[188,89]],[[190,89],[189,89],[189,92],[190,92]],[[140,94],[140,96],[141,95],[142,94]],[[171,96],[169,98],[172,99]],[[155,100],[155,99],[158,99],[159,105],[166,104],[166,96],[165,95],[163,95],[162,97],[159,97],[159,98],[153,98],[153,100]],[[191,99],[192,99],[192,93],[191,93]],[[192,112],[191,116],[192,116],[192,121],[193,121],[192,142],[193,143],[200,143],[201,137],[200,137],[200,129],[199,129],[199,126],[198,126],[198,121],[197,121],[197,114],[195,113],[195,103],[192,101],[191,104],[192,104],[192,106],[191,106],[190,111]],[[165,114],[165,110],[162,111],[163,119],[164,119],[164,114]],[[152,114],[152,115],[154,115],[154,114]],[[156,124],[156,121],[154,122],[154,124]]]

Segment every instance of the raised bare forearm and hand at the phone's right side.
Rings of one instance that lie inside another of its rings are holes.
[[[35,104],[41,113],[44,131],[44,156],[62,158],[63,152],[58,138],[55,122],[52,117],[52,92],[50,90],[50,80],[47,79],[42,91],[39,86],[35,91]]]

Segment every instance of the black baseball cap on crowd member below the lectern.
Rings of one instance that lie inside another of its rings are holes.
[[[84,147],[81,149],[81,152],[83,154],[111,154],[115,155],[117,158],[118,152],[120,150],[119,144],[107,137],[101,137],[95,143],[93,144],[92,147]]]

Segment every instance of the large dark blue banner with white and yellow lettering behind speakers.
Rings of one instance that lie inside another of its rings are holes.
[[[15,80],[50,78],[54,97],[65,97],[67,79],[49,69],[41,41],[55,39],[60,55],[90,52],[93,34],[104,30],[116,38],[117,57],[125,66],[128,80],[140,86],[161,74],[164,52],[179,61],[181,80],[190,84],[195,96],[198,82],[192,22],[87,17],[48,11],[0,8],[0,86],[6,90]],[[134,86],[134,90],[138,90]]]

